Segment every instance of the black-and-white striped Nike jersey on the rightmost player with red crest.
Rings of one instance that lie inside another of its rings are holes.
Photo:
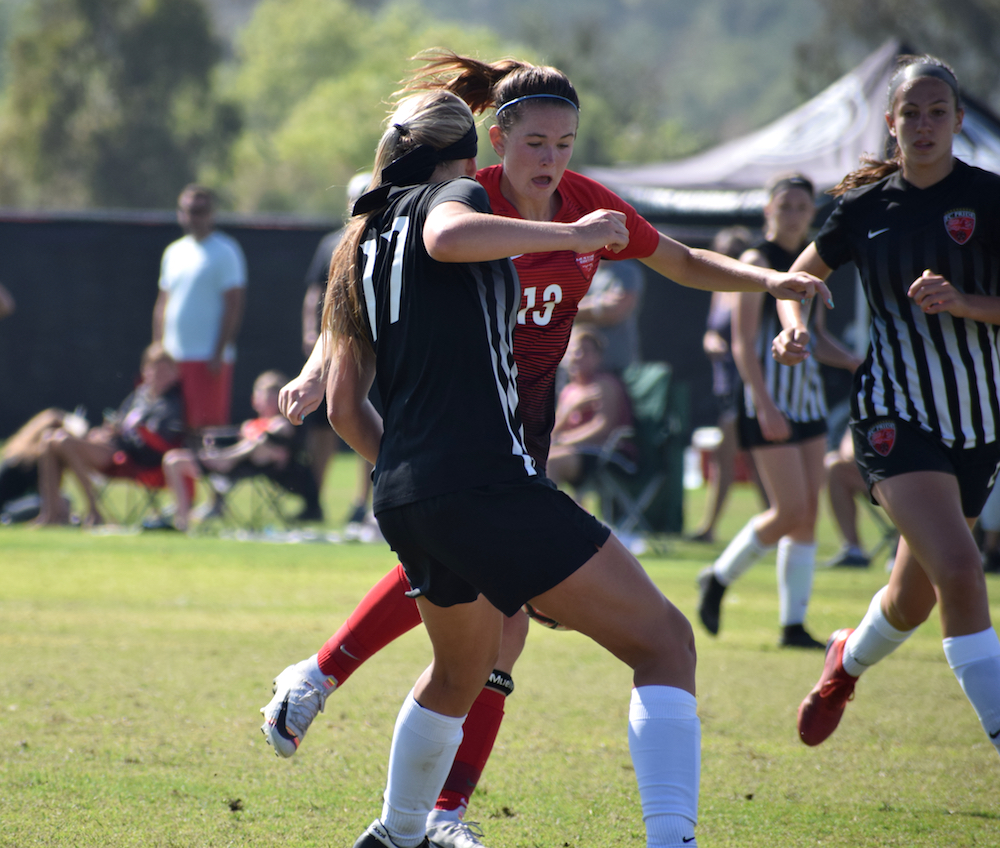
[[[896,172],[844,194],[816,248],[831,268],[855,262],[871,310],[855,420],[896,416],[949,447],[996,441],[997,327],[927,315],[907,290],[929,269],[959,291],[1000,294],[1000,177],[956,160],[919,189]]]

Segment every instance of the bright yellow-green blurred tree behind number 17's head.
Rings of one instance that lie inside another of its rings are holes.
[[[262,0],[237,39],[226,90],[244,129],[226,175],[238,209],[340,216],[371,167],[390,95],[421,50],[522,55],[486,29],[445,25],[413,2],[367,11],[348,0]],[[480,164],[489,142],[480,136]]]

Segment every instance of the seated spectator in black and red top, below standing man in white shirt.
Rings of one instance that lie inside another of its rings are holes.
[[[73,470],[87,498],[84,524],[102,524],[91,475],[136,478],[156,471],[163,454],[184,439],[184,404],[177,385],[177,363],[158,342],[142,354],[142,382],[104,424],[80,437],[60,427],[47,433],[38,458],[42,508],[36,523],[68,524],[60,494],[63,471]]]

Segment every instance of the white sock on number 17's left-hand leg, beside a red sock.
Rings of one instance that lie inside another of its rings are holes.
[[[400,848],[415,848],[427,832],[427,814],[444,786],[462,741],[465,716],[425,710],[411,691],[396,718],[382,824]]]

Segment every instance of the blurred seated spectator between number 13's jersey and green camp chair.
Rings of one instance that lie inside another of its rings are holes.
[[[632,407],[622,381],[603,366],[604,340],[584,325],[573,328],[563,364],[569,382],[559,392],[552,449],[546,473],[557,486],[574,488],[595,470],[609,437],[632,424]],[[629,456],[625,439],[614,453]]]

